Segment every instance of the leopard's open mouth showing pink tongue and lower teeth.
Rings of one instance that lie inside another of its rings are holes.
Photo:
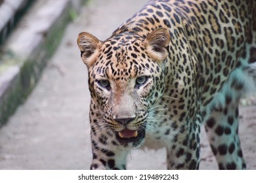
[[[119,142],[137,142],[140,139],[145,137],[145,131],[142,129],[139,130],[131,130],[131,129],[123,129],[116,133],[116,138]]]

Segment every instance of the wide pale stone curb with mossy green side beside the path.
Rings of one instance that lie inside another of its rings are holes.
[[[36,1],[0,55],[0,127],[32,92],[64,28],[86,0]]]

